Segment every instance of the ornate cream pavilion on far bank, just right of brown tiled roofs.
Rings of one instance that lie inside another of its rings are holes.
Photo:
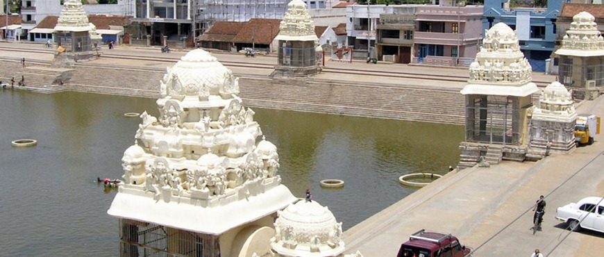
[[[308,14],[306,3],[293,0],[287,4],[287,13],[279,25],[278,64],[272,76],[276,78],[305,77],[319,74],[314,22]]]

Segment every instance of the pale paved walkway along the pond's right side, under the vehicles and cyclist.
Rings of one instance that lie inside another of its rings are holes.
[[[602,117],[604,97],[583,103],[578,113]],[[559,206],[604,196],[602,138],[536,163],[504,161],[447,174],[345,231],[346,249],[396,256],[410,234],[428,229],[458,235],[462,244],[476,249],[474,256],[530,256],[535,248],[545,256],[603,256],[603,233],[570,233],[555,219]],[[544,226],[532,235],[531,210],[540,194],[547,202]]]

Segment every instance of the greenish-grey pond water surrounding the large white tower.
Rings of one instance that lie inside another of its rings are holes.
[[[67,92],[0,92],[0,252],[2,256],[117,256],[118,219],[106,213],[115,191],[97,176],[120,178],[121,157],[156,99]],[[244,100],[244,105],[245,105]],[[416,188],[412,172],[444,174],[458,163],[462,126],[253,108],[278,147],[280,174],[296,197],[333,211],[344,230]],[[36,147],[12,147],[22,138]],[[342,179],[344,188],[321,188]]]

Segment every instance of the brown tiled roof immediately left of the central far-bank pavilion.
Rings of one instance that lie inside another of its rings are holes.
[[[279,33],[280,22],[280,19],[250,19],[233,38],[233,42],[270,44]]]

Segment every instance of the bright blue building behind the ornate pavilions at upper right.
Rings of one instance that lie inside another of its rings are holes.
[[[555,47],[556,19],[562,9],[561,0],[548,0],[546,8],[510,8],[510,0],[485,0],[485,30],[503,22],[516,31],[520,50],[534,72],[545,72],[545,60]]]

